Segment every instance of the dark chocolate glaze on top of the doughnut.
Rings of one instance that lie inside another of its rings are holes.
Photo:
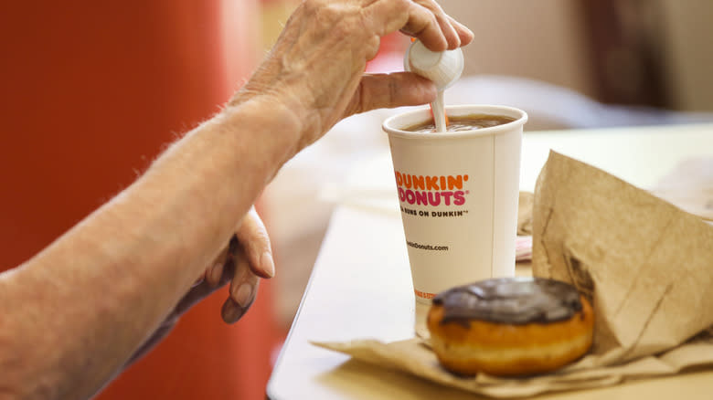
[[[441,323],[468,326],[480,320],[523,325],[569,320],[581,311],[580,293],[568,283],[543,278],[487,279],[439,293]]]

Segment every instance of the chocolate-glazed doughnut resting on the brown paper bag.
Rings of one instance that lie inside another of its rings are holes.
[[[442,366],[464,376],[554,371],[591,347],[594,313],[554,279],[486,279],[437,294],[427,316]]]

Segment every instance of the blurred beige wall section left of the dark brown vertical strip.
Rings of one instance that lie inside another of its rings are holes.
[[[441,0],[470,27],[466,74],[543,80],[593,96],[590,54],[580,2],[571,0]]]

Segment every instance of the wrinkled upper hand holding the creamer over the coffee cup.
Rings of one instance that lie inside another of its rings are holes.
[[[399,29],[434,51],[473,40],[434,0],[306,0],[229,105],[261,96],[293,112],[302,125],[299,151],[351,114],[430,102],[436,89],[428,79],[363,74],[380,37]]]

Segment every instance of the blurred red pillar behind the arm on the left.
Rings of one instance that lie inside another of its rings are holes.
[[[218,111],[256,64],[257,19],[257,0],[2,2],[0,270]],[[269,284],[237,325],[220,321],[225,296],[190,311],[99,398],[263,397],[275,338]]]

